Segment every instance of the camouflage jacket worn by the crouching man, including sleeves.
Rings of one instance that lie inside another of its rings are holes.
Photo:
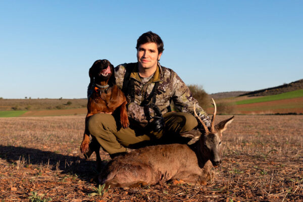
[[[128,71],[127,74],[126,71]],[[146,104],[146,99],[149,100],[148,98],[153,95],[156,82],[159,82],[159,84],[155,90],[155,93],[157,93],[155,105],[159,107],[162,114],[169,112],[171,101],[174,102],[178,111],[193,114],[193,105],[197,100],[192,97],[188,87],[177,73],[169,68],[162,67],[159,64],[153,78],[142,84],[138,73],[138,63],[125,63],[115,68],[115,77],[117,85],[126,95],[130,120],[138,122],[141,126],[148,123],[144,115],[143,103]],[[131,80],[133,80],[134,86],[132,89]],[[153,110],[150,109],[149,111],[153,114]],[[196,105],[196,113],[210,127],[210,118],[199,105]]]

